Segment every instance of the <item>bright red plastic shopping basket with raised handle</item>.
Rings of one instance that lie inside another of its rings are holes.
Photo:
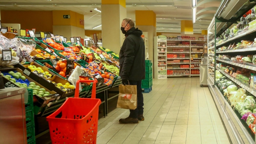
[[[79,98],[79,83],[93,82],[92,98]],[[96,144],[100,99],[96,99],[97,80],[78,80],[75,98],[68,98],[46,117],[52,144]]]

